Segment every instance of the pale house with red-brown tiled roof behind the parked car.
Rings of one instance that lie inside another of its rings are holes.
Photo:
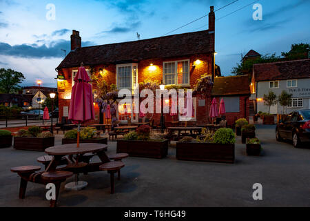
[[[310,108],[310,59],[254,64],[251,80],[251,101],[257,112],[267,112],[262,97],[273,91],[280,95],[283,90],[293,95],[288,112]],[[282,113],[280,104],[271,106],[272,114]]]

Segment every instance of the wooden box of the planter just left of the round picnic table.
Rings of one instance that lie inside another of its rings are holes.
[[[45,148],[55,146],[55,137],[14,137],[14,148],[25,151],[45,151]]]

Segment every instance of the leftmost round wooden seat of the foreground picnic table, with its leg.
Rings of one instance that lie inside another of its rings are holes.
[[[25,191],[28,184],[28,180],[25,177],[28,177],[32,173],[40,170],[41,166],[17,166],[11,168],[13,173],[17,173],[21,177],[21,184],[19,186],[19,199],[25,198]]]

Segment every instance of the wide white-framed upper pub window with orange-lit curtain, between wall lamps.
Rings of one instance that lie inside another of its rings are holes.
[[[189,85],[189,60],[164,62],[163,82],[165,85]]]

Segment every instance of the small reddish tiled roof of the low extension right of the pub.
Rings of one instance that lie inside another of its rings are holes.
[[[212,89],[213,96],[250,94],[249,75],[216,77]]]

